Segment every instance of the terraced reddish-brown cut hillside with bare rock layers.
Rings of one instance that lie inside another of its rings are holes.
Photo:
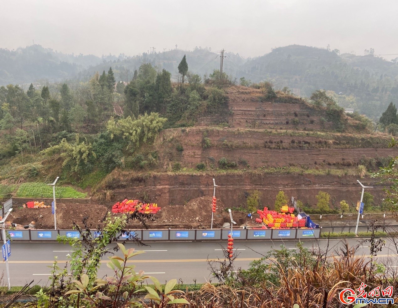
[[[159,154],[156,170],[115,170],[105,178],[104,188],[116,199],[153,196],[160,206],[183,205],[213,193],[227,207],[244,203],[252,190],[262,192],[263,205],[272,205],[279,190],[313,205],[320,190],[338,205],[359,198],[357,166],[374,170],[396,155],[388,148],[390,136],[370,133],[357,121],[343,116],[345,132],[336,132],[325,121],[325,108],[285,97],[263,99],[260,90],[226,89],[228,110],[222,115],[202,116],[197,125],[161,132],[154,143]],[[382,186],[375,186],[378,202]]]

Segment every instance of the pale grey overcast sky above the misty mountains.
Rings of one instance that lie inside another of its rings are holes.
[[[175,45],[259,56],[291,44],[398,54],[397,12],[395,0],[2,0],[0,48],[34,39],[54,50],[98,56]]]

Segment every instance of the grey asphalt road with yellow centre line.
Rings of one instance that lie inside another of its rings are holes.
[[[354,246],[359,243],[358,238],[349,238],[347,242]],[[392,269],[398,267],[398,253],[396,247],[386,238],[386,247],[378,253],[378,260],[381,262],[387,257],[389,258]],[[266,254],[272,248],[279,248],[281,244],[289,250],[297,249],[295,245],[298,241],[235,241],[234,249],[239,253],[235,260],[235,266],[248,268],[251,261],[261,258],[261,254]],[[329,245],[330,254],[334,250],[343,246],[340,239],[320,240],[304,240],[302,241],[304,247],[311,249],[325,250]],[[137,247],[134,244],[127,244],[127,248],[135,248],[136,250],[144,250],[144,254],[135,256],[131,263],[135,263],[136,271],[144,270],[148,275],[153,275],[159,281],[169,279],[179,279],[183,283],[193,283],[193,279],[197,283],[204,283],[211,279],[209,270],[207,269],[207,258],[215,259],[222,258],[221,245],[226,246],[226,241],[223,242],[152,242],[148,243],[150,246]],[[51,269],[49,266],[53,264],[55,256],[58,256],[59,266],[64,267],[68,260],[67,254],[70,254],[70,246],[68,244],[60,243],[29,243],[29,242],[13,242],[11,245],[11,257],[9,259],[11,285],[24,285],[26,282],[35,280],[35,284],[48,285],[49,273]],[[370,249],[369,243],[362,244],[356,252],[357,256],[369,257]],[[111,270],[106,266],[107,258],[101,261],[98,277],[103,275],[112,275]],[[0,263],[0,272],[5,271],[5,263]]]

